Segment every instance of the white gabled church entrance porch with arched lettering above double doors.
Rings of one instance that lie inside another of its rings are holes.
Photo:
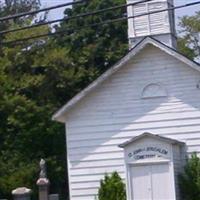
[[[143,133],[119,147],[124,149],[127,200],[181,200],[177,180],[185,143]]]

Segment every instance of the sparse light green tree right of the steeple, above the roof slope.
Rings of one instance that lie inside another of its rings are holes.
[[[200,11],[193,16],[182,17],[179,25],[179,50],[191,59],[200,56]]]

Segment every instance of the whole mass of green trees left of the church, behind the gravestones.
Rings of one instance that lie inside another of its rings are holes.
[[[15,4],[13,4],[15,2]],[[8,0],[0,15],[37,9],[34,0]],[[66,15],[125,3],[94,0],[74,6]],[[14,7],[13,7],[14,6]],[[58,30],[79,23],[100,22],[122,16],[123,10],[62,23]],[[0,23],[4,30],[30,25],[35,16]],[[47,160],[51,192],[67,199],[66,143],[64,127],[52,122],[52,114],[127,50],[126,22],[84,28],[53,38],[29,40],[0,47],[0,198],[10,199],[12,189],[30,187],[37,199],[36,180],[40,158]],[[6,35],[15,40],[51,32],[48,26]]]

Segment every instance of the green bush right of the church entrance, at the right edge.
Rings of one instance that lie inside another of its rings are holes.
[[[181,199],[200,199],[200,158],[196,154],[187,161],[184,173],[179,176],[179,185]]]

